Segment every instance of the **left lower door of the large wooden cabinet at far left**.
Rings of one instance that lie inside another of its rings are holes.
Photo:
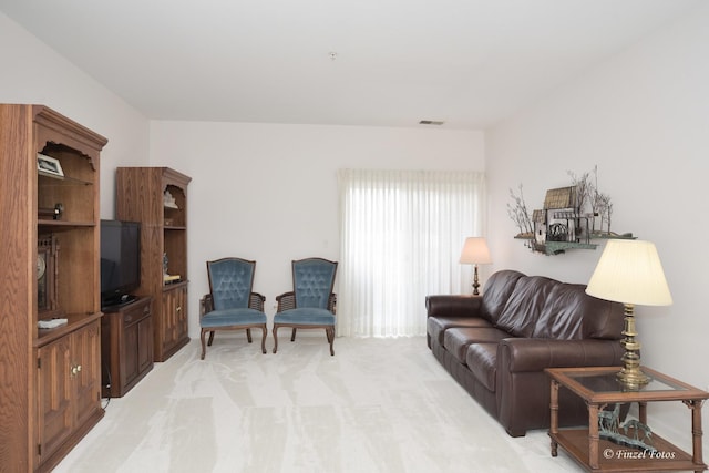
[[[37,350],[39,462],[62,445],[73,428],[71,340],[63,337]],[[39,463],[38,462],[38,463]]]

